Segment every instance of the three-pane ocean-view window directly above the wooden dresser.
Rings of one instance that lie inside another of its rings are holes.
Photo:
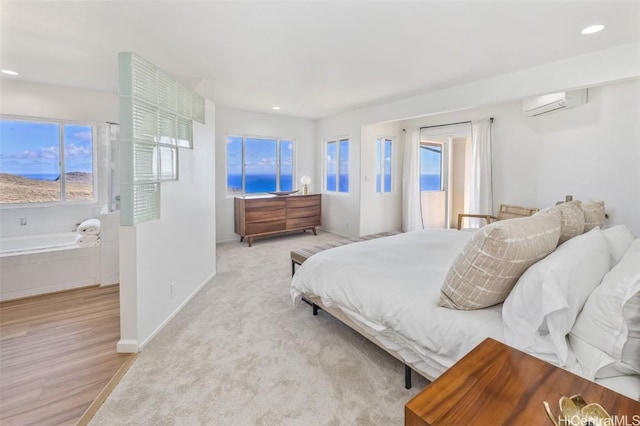
[[[293,190],[293,141],[227,137],[227,194]]]

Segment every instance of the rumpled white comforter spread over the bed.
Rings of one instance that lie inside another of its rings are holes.
[[[471,235],[415,231],[325,250],[296,271],[291,294],[294,301],[306,294],[339,307],[435,378],[485,338],[504,341],[502,305],[476,311],[437,306],[447,271]]]

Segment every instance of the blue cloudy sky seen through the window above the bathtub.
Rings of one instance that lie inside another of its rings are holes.
[[[57,123],[0,120],[0,173],[60,173],[60,130]],[[64,125],[66,172],[93,170],[92,127]]]

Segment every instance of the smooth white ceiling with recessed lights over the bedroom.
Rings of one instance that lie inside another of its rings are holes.
[[[133,51],[218,107],[307,118],[637,40],[637,0],[0,1],[20,80],[116,92]]]

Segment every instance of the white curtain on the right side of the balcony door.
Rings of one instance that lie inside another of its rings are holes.
[[[493,180],[491,173],[491,120],[471,122],[471,188],[469,212],[493,214]],[[469,226],[478,228],[484,220],[469,219]]]

